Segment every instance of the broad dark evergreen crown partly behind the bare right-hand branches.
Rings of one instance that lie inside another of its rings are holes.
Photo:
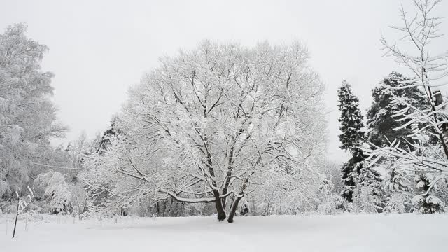
[[[398,122],[396,118],[393,118],[393,115],[406,108],[406,105],[402,102],[411,104],[418,109],[425,108],[427,102],[425,94],[419,90],[419,87],[391,88],[408,85],[403,84],[405,82],[409,82],[409,78],[393,71],[379,83],[379,86],[372,90],[373,102],[367,111],[367,140],[370,143],[379,147],[389,146],[388,141],[397,139],[402,141],[401,147],[403,147],[407,141],[413,142],[410,137],[407,137],[412,133],[410,125],[400,130],[394,130],[406,121]],[[398,102],[397,99],[402,102]]]

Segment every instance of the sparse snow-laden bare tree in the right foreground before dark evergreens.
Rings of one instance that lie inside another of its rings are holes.
[[[391,92],[393,102],[401,107],[392,116],[400,123],[393,130],[409,129],[409,134],[403,139],[388,139],[388,146],[372,144],[370,149],[364,150],[370,155],[369,166],[384,158],[392,159],[398,169],[415,175],[416,188],[421,195],[414,197],[412,203],[421,213],[442,211],[440,200],[432,195],[430,189],[448,172],[447,102],[443,101],[438,90],[441,85],[448,83],[448,53],[437,55],[430,48],[430,43],[442,35],[437,29],[441,18],[433,15],[440,2],[415,0],[416,14],[413,16],[401,8],[403,25],[392,27],[402,36],[400,43],[389,43],[386,38],[381,38],[385,55],[393,57],[398,64],[407,66],[413,73],[412,78],[400,80],[400,85],[389,88],[410,90],[417,87],[423,92],[426,101],[416,106],[414,101],[395,95],[395,91]],[[432,174],[436,174],[437,179],[430,179]]]

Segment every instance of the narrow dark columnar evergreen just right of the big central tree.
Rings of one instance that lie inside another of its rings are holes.
[[[339,97],[339,111],[341,111],[341,117],[339,123],[341,123],[339,130],[342,134],[339,134],[339,141],[343,150],[356,151],[353,148],[359,147],[364,139],[365,134],[363,132],[363,116],[359,109],[359,100],[353,94],[351,85],[342,81],[342,86],[337,91]]]

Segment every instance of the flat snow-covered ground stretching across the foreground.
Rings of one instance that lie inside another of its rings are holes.
[[[448,215],[258,216],[77,221],[0,216],[0,251],[448,251]],[[26,228],[25,228],[26,224]]]

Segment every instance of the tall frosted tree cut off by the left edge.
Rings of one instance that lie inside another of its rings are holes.
[[[41,172],[35,162],[50,155],[50,138],[65,131],[50,100],[53,74],[41,71],[48,48],[27,38],[26,29],[12,25],[0,34],[0,197]]]

